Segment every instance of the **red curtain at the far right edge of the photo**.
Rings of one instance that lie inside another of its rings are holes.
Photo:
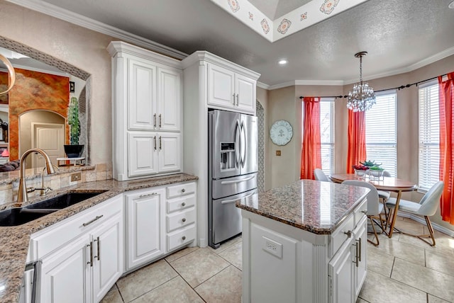
[[[443,77],[438,77],[440,99],[440,179],[445,183],[441,195],[440,210],[443,221],[454,224],[454,72]]]

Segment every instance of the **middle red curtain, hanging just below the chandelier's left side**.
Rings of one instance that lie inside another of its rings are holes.
[[[347,173],[354,173],[353,165],[366,160],[366,113],[348,110]]]

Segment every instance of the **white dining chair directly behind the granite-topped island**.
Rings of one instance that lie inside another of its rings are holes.
[[[369,182],[359,181],[359,180],[345,180],[345,181],[343,181],[342,184],[361,186],[361,187],[370,189],[370,192],[367,194],[367,218],[370,219],[370,224],[372,225],[372,230],[374,231],[374,235],[375,235],[375,242],[371,241],[368,238],[367,238],[367,241],[374,244],[375,246],[378,246],[380,244],[380,241],[378,240],[377,230],[375,230],[375,226],[374,226],[374,223],[377,225],[378,225],[378,223],[374,219],[380,220],[379,221],[380,228],[382,230],[384,230],[384,227],[383,227],[384,220],[382,219],[382,215],[381,215],[382,211],[383,211],[383,204],[380,203],[380,200],[378,198],[377,188],[375,188],[375,186]]]

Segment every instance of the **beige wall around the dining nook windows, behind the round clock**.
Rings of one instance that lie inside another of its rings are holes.
[[[421,67],[412,72],[388,76],[380,79],[368,80],[370,86],[376,91],[385,88],[423,81],[454,70],[454,55],[441,59],[438,62]],[[294,130],[294,137],[284,147],[277,147],[270,143],[270,166],[265,173],[271,174],[270,187],[291,183],[299,179],[301,165],[301,102],[299,96],[338,96],[346,95],[353,84],[345,86],[292,86],[279,88],[269,93],[268,113],[269,126],[275,120],[289,121]],[[418,89],[416,86],[397,91],[397,171],[398,178],[418,183],[418,150],[419,150],[419,119],[418,119]],[[335,103],[335,161],[336,173],[345,173],[347,158],[347,130],[348,110],[346,99],[337,99]],[[270,141],[270,140],[269,140]],[[282,156],[275,156],[275,151],[280,149]],[[422,193],[404,193],[402,198],[419,201]],[[440,215],[435,215],[432,221],[448,229],[454,226],[441,221]]]

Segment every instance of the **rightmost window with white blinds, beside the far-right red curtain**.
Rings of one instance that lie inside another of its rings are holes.
[[[419,88],[419,189],[428,190],[439,180],[439,166],[438,82],[431,81]]]

